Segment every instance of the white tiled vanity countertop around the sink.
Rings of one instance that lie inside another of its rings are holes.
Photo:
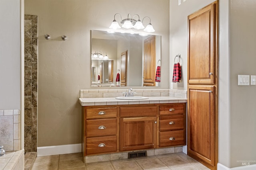
[[[79,98],[82,106],[101,106],[101,105],[122,105],[122,104],[158,104],[158,103],[186,103],[186,98],[170,96],[148,97],[143,100],[120,100],[116,98]]]

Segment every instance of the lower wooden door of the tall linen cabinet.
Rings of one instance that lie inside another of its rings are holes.
[[[188,86],[188,155],[214,166],[214,86]]]

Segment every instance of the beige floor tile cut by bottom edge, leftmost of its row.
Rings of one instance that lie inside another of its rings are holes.
[[[35,162],[32,170],[58,170],[58,160]]]

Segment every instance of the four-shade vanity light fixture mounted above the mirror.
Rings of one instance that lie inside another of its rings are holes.
[[[122,16],[118,13],[116,13],[114,15],[114,20],[112,21],[111,25],[110,25],[110,29],[119,29],[121,28],[120,25],[118,24],[118,22],[116,21],[116,15],[119,15],[120,18],[121,18],[121,24],[122,24],[122,27],[124,29],[129,29],[129,28],[133,28],[133,29],[136,29],[136,30],[139,30],[139,29],[143,29],[143,31],[145,32],[148,32],[148,33],[151,33],[151,32],[154,32],[154,28],[151,24],[151,19],[149,17],[144,17],[142,19],[142,21],[140,21],[140,16],[138,14],[135,14],[132,19],[131,19],[131,16],[130,14],[128,14],[127,18],[122,20]],[[134,20],[134,17],[135,16],[138,16],[138,20]],[[144,27],[143,25],[143,21],[145,18],[148,18],[149,19],[149,23],[148,25],[146,26],[146,28]],[[145,29],[144,29],[145,28]]]

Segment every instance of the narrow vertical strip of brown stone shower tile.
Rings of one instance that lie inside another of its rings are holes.
[[[24,60],[24,149],[37,150],[37,16],[24,16],[25,60]]]

